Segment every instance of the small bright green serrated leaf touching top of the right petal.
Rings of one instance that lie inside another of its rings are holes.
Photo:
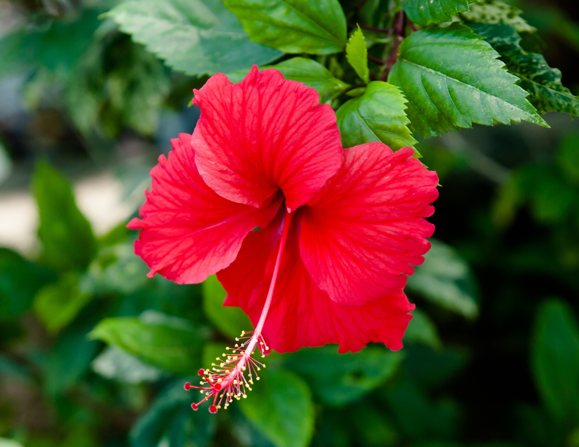
[[[382,141],[394,151],[416,144],[408,129],[406,98],[398,87],[375,80],[362,96],[346,101],[336,112],[342,145],[351,148]]]

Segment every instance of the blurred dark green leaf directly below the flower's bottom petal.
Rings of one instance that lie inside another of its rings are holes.
[[[327,345],[284,354],[283,360],[286,368],[306,378],[322,400],[345,405],[393,376],[402,354],[378,347],[338,354],[335,345]]]

